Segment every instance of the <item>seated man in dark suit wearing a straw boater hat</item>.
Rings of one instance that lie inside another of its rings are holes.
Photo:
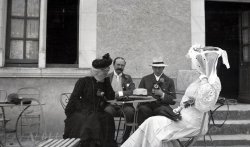
[[[154,58],[151,64],[153,73],[144,76],[139,84],[139,88],[147,89],[148,95],[152,95],[154,102],[142,103],[138,106],[138,124],[143,123],[150,116],[163,115],[169,117],[174,115],[173,109],[169,105],[174,105],[176,99],[175,85],[173,79],[163,73],[167,66],[163,58]]]

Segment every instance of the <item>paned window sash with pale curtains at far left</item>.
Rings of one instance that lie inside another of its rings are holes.
[[[7,66],[37,66],[40,0],[8,0]]]

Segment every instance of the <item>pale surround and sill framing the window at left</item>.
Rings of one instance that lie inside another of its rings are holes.
[[[6,67],[7,1],[0,1],[0,77],[67,77],[89,75],[91,62],[96,58],[97,0],[79,1],[78,67],[47,67],[46,65],[46,15],[47,0],[40,0],[38,67]]]

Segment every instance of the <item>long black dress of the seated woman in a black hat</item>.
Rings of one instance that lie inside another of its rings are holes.
[[[99,95],[100,91],[104,96]],[[79,79],[65,109],[63,138],[81,138],[81,147],[116,147],[114,118],[104,112],[106,100],[114,97],[108,78],[104,82],[94,77]]]

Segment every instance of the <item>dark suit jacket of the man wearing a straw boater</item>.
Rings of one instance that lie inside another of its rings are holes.
[[[148,95],[152,95],[152,88],[155,83],[158,83],[162,91],[165,93],[164,99],[158,99],[157,101],[160,101],[160,103],[168,104],[168,105],[174,105],[176,99],[175,93],[175,85],[173,79],[169,78],[165,74],[162,74],[159,81],[157,82],[155,79],[154,74],[150,74],[147,76],[144,76],[141,79],[141,82],[139,84],[139,88],[145,88],[148,91]],[[170,93],[171,92],[171,93]]]

